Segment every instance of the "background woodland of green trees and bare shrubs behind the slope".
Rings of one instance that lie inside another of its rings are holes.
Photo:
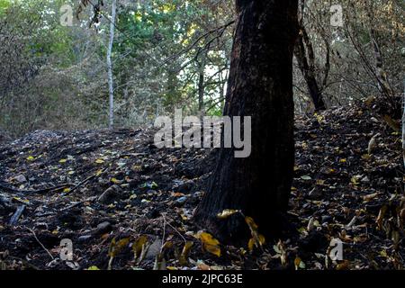
[[[305,2],[294,51],[296,112],[313,112],[320,99],[331,107],[383,94],[397,106],[383,109],[396,110],[399,119],[399,102],[392,99],[401,94],[404,77],[403,5],[340,1],[340,15],[329,1]],[[108,126],[111,16],[111,1],[1,0],[5,134]],[[235,17],[226,0],[118,1],[114,125],[150,124],[179,106],[190,114],[220,115]]]

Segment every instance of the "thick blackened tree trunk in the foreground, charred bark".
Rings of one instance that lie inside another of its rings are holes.
[[[293,48],[297,1],[237,1],[228,93],[224,114],[252,117],[252,153],[234,157],[220,148],[211,186],[194,217],[224,241],[244,238],[247,225],[225,209],[241,210],[275,236],[288,207],[293,181]],[[243,135],[243,134],[242,134]]]

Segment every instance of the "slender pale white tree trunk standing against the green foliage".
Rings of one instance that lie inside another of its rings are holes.
[[[108,91],[110,95],[110,112],[109,112],[109,124],[108,127],[112,129],[114,124],[114,85],[112,80],[112,44],[114,42],[114,28],[115,28],[115,14],[117,10],[117,0],[112,0],[112,14],[110,23],[110,40],[108,42],[107,49],[107,69],[108,69]]]

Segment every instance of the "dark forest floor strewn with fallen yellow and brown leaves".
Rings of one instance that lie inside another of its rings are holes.
[[[405,268],[399,133],[349,106],[297,117],[295,137],[296,233],[253,251],[202,240],[193,224],[210,150],[157,149],[151,130],[42,130],[4,143],[0,268]],[[327,257],[333,238],[343,260]],[[73,259],[60,259],[62,239]]]

